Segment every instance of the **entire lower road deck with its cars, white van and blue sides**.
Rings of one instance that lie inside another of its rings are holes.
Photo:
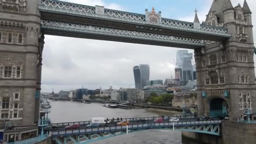
[[[95,117],[91,121],[53,123],[43,128],[43,131],[49,133],[58,144],[67,142],[87,144],[147,129],[172,129],[220,136],[220,124],[219,119],[208,120],[194,116],[135,117],[112,120]]]

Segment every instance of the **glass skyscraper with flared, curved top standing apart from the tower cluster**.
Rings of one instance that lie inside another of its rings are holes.
[[[133,67],[134,81],[136,88],[144,88],[149,80],[149,65],[140,64],[139,66]]]

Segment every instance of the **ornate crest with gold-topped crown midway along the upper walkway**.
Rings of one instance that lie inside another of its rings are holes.
[[[152,8],[151,12],[148,12],[147,9],[145,10],[146,12],[146,21],[149,24],[160,24],[161,22],[161,12],[159,11],[158,13],[155,12],[155,8]]]

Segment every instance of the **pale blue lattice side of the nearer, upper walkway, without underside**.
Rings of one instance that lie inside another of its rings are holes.
[[[104,9],[100,14],[97,14],[96,7],[88,5],[80,5],[68,3],[59,0],[41,0],[39,5],[41,12],[60,13],[72,16],[89,17],[93,19],[105,19],[110,21],[129,22],[131,24],[150,24],[146,19],[146,15],[138,13],[129,13],[124,11],[116,11]],[[146,11],[147,12],[147,11]],[[159,15],[161,15],[159,13]],[[216,27],[201,24],[200,29],[195,29],[194,24],[186,21],[178,21],[173,19],[160,18],[158,24],[151,24],[157,27],[165,27],[168,29],[176,29],[208,35],[216,35],[221,37],[230,37],[226,27]]]

